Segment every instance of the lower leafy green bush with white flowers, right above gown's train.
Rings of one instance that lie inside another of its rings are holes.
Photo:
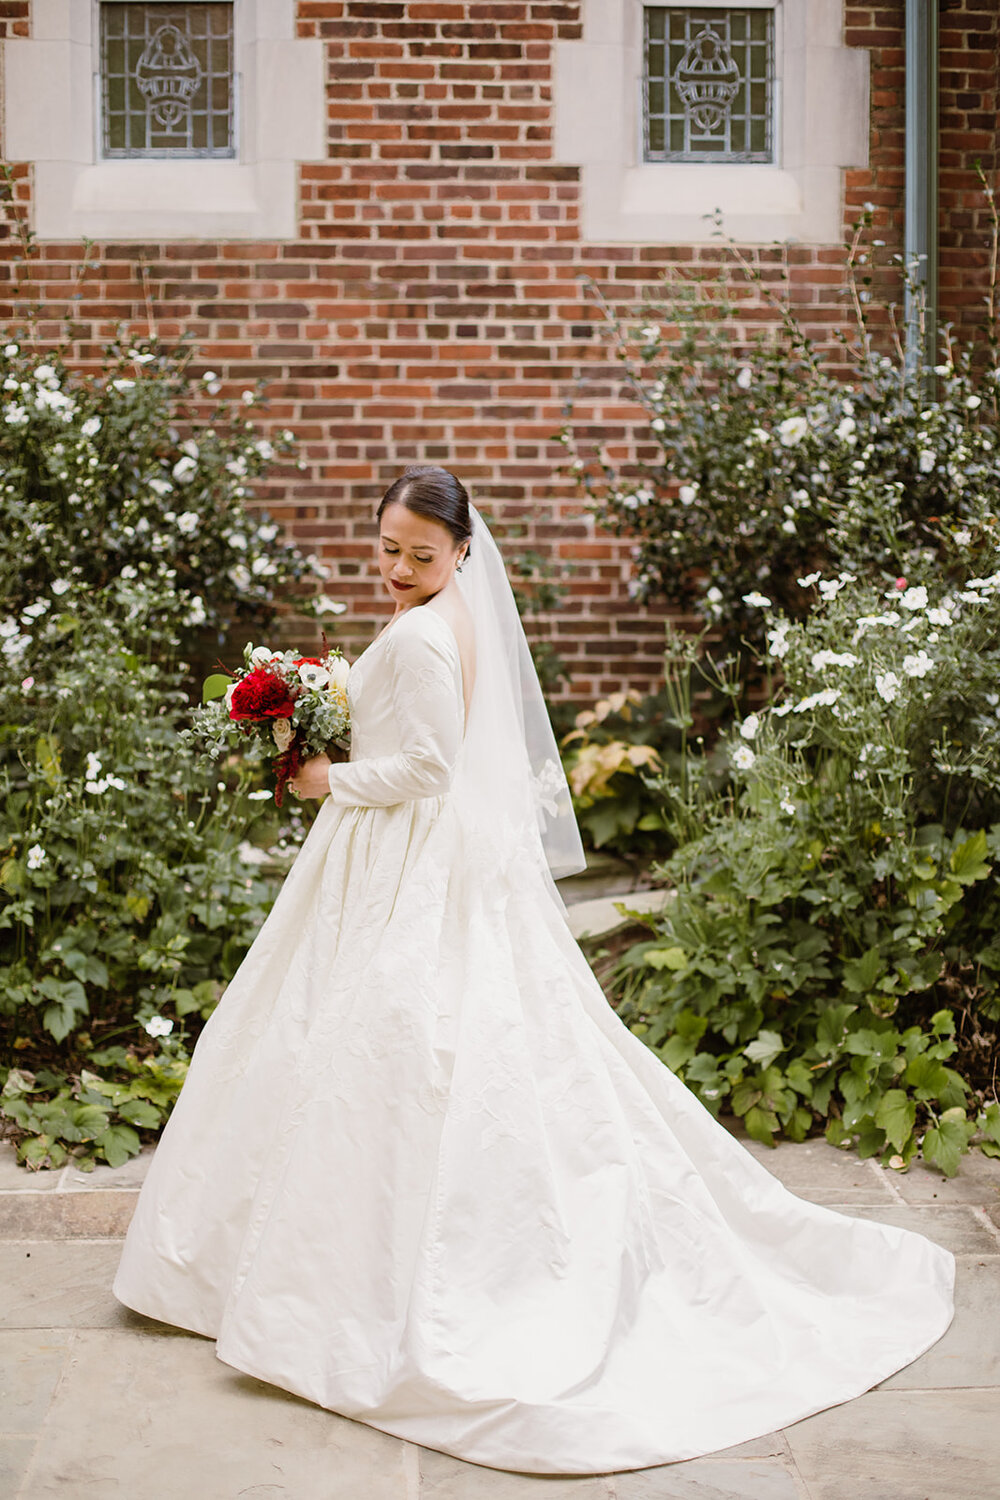
[[[759,1140],[943,1172],[1000,1155],[1000,573],[888,588],[813,573],[802,622],[750,608],[781,686],[670,816],[675,898],[622,1014]]]

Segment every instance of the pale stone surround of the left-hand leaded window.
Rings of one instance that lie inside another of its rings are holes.
[[[294,240],[298,164],[325,159],[324,45],[295,0],[235,0],[238,154],[103,160],[99,0],[33,0],[3,44],[4,154],[33,165],[40,240]]]

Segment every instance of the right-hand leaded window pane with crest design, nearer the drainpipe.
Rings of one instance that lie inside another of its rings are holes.
[[[774,160],[774,10],[646,6],[648,162]]]

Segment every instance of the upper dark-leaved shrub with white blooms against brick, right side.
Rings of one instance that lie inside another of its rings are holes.
[[[561,436],[589,508],[634,540],[633,592],[702,615],[736,645],[762,645],[757,594],[801,616],[796,576],[978,572],[1000,516],[1000,363],[993,309],[981,346],[945,336],[939,364],[880,348],[867,302],[868,216],[847,252],[856,330],[819,351],[733,250],[775,310],[741,342],[741,308],[718,282],[681,276],[631,318],[607,309],[628,394],[645,412],[631,464]],[[886,326],[895,318],[886,314]],[[844,364],[847,363],[847,372]],[[928,393],[934,387],[934,396]]]

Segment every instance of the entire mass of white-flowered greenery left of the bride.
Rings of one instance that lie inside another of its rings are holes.
[[[178,732],[178,656],[316,568],[244,510],[291,435],[253,393],[192,428],[217,387],[187,363],[115,345],[82,378],[0,345],[0,1124],[33,1167],[159,1126],[280,862],[270,792]]]

